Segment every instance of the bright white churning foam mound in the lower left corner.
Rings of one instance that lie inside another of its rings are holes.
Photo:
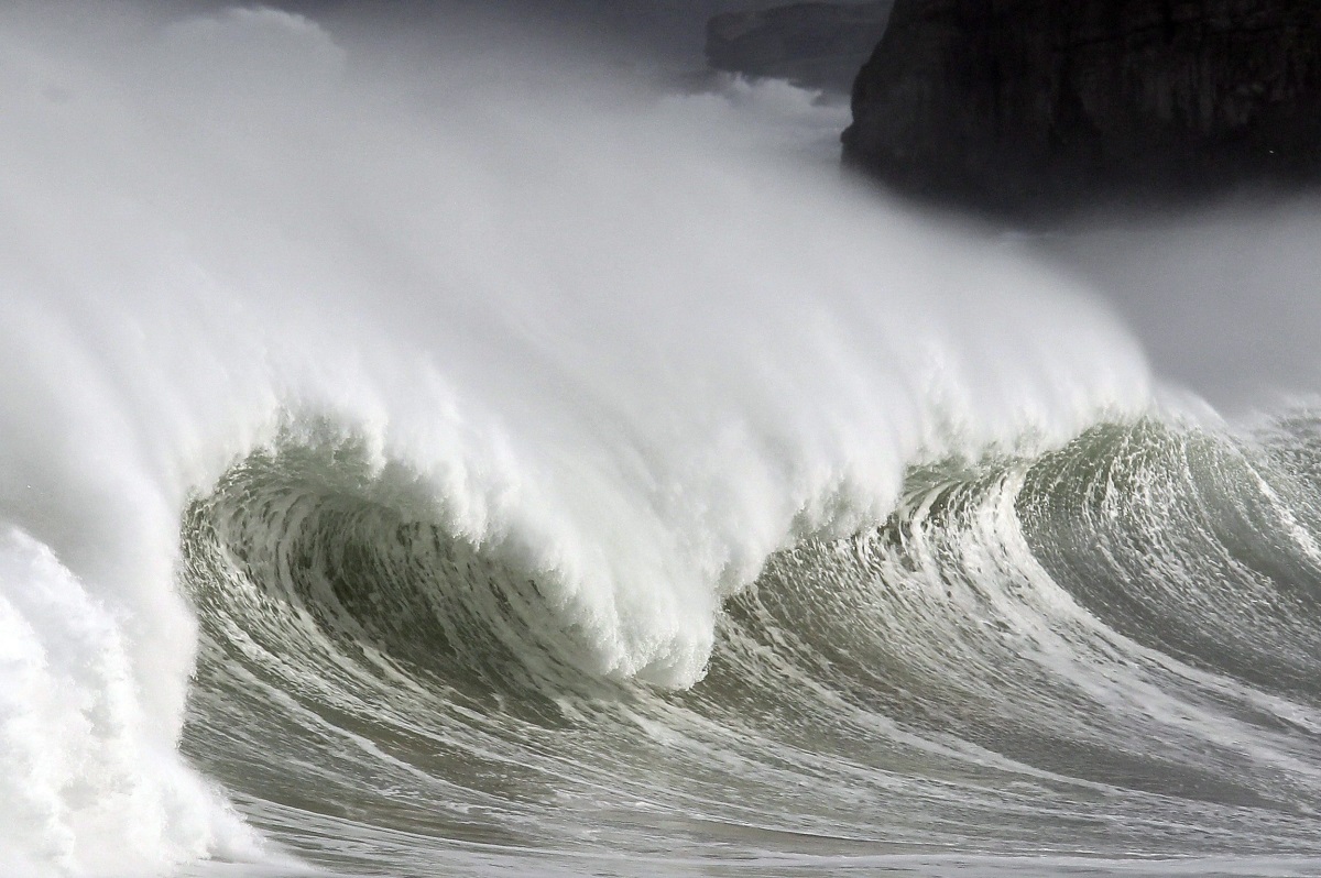
[[[129,874],[254,845],[148,720],[124,630],[44,545],[0,533],[0,870]]]

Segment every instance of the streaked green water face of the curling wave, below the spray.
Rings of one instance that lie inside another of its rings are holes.
[[[913,470],[880,527],[769,558],[680,692],[585,671],[548,590],[407,478],[262,453],[186,518],[185,749],[337,873],[946,874],[975,849],[976,874],[1293,874],[1321,808],[1317,437],[1147,420]]]

